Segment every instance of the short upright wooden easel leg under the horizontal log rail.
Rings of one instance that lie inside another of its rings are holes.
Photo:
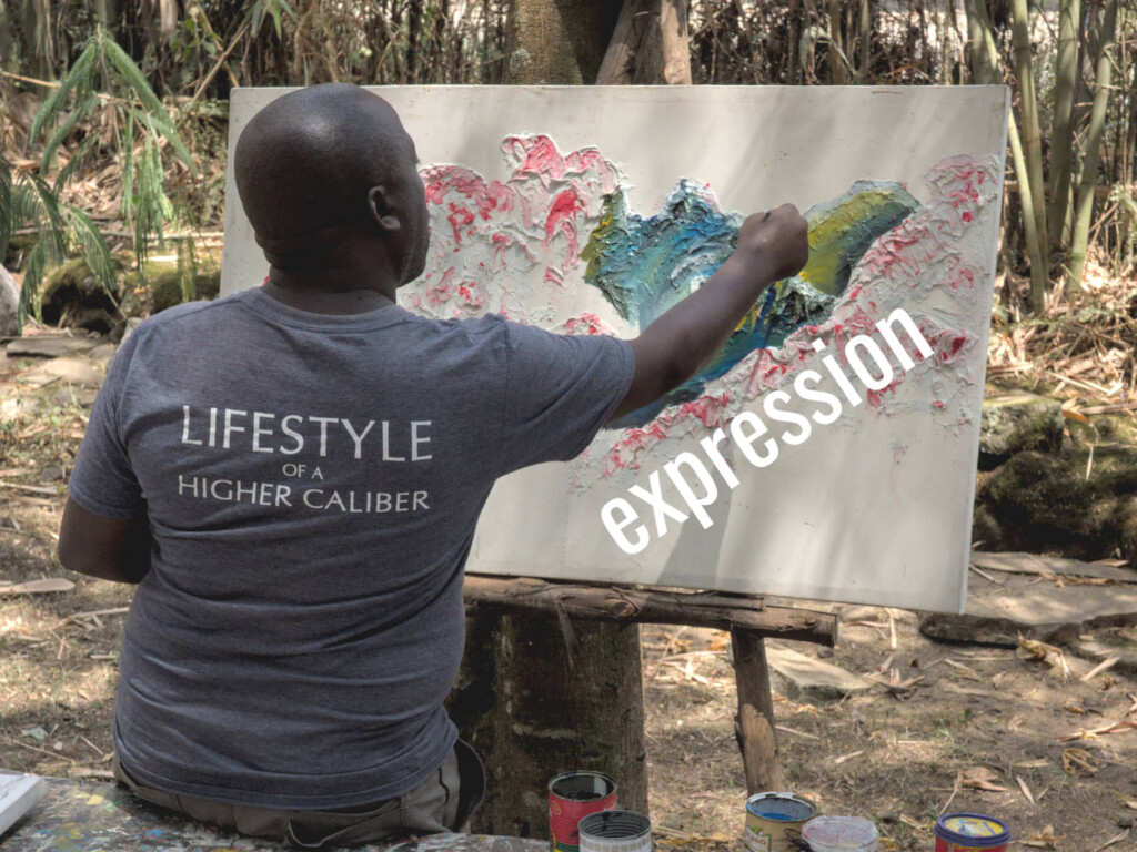
[[[761,635],[745,628],[733,628],[730,640],[738,685],[735,736],[742,753],[747,795],[785,790],[765,645]]]

